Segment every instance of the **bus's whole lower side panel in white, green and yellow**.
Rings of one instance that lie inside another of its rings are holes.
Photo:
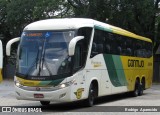
[[[153,57],[98,54],[88,61],[86,70],[86,87],[92,77],[97,79],[99,96],[134,91],[136,79],[141,82],[143,77],[147,89],[152,85]]]

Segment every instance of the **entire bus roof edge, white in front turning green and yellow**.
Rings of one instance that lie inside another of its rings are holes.
[[[149,38],[136,35],[127,30],[102,23],[93,19],[87,18],[61,18],[61,19],[47,19],[33,22],[24,28],[25,30],[68,30],[78,29],[81,27],[96,27],[104,31],[152,42]]]

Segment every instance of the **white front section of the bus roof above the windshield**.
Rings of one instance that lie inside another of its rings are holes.
[[[24,28],[26,30],[68,30],[78,29],[80,27],[93,27],[94,21],[92,19],[47,19],[33,22]]]

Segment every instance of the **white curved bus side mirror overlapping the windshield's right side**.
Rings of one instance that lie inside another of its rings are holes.
[[[73,55],[74,55],[76,43],[77,43],[79,40],[82,40],[82,39],[84,39],[84,36],[77,36],[77,37],[74,37],[74,38],[70,41],[69,47],[68,47],[68,54],[69,54],[69,56],[73,56]]]

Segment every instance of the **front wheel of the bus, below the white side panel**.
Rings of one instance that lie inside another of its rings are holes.
[[[93,84],[90,85],[89,88],[89,94],[88,94],[88,98],[86,101],[86,105],[89,107],[92,107],[94,104],[94,99],[95,99],[95,90],[93,88]]]

